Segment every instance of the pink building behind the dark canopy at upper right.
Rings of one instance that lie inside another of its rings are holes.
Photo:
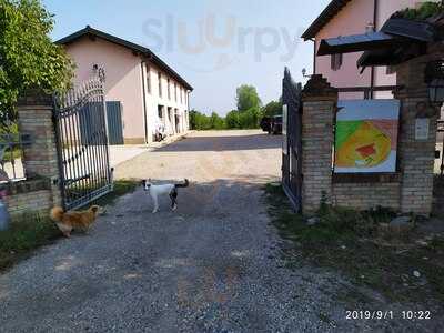
[[[440,0],[435,0],[438,2]],[[396,73],[390,68],[367,68],[361,73],[356,61],[361,52],[316,56],[322,39],[380,30],[395,12],[415,8],[424,0],[332,0],[304,32],[314,42],[314,73],[323,74],[336,88],[395,85]],[[373,98],[391,98],[391,92],[375,92]],[[342,92],[342,99],[363,98],[362,92]]]

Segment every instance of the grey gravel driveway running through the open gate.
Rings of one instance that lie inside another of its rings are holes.
[[[291,271],[261,185],[280,175],[279,137],[195,133],[120,164],[117,178],[189,178],[179,210],[151,214],[139,189],[88,235],[40,250],[0,276],[1,332],[329,332],[347,284]]]

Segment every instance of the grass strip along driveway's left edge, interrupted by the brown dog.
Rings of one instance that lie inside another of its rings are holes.
[[[131,180],[115,181],[113,192],[91,204],[113,204],[119,196],[133,192],[137,185],[138,182]],[[62,233],[47,216],[23,214],[16,219],[9,230],[0,231],[0,272],[28,258],[36,249],[51,244],[61,236]]]

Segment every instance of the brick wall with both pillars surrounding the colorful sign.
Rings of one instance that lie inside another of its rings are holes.
[[[313,75],[303,91],[302,171],[304,212],[319,209],[322,193],[340,206],[367,210],[391,208],[403,213],[428,215],[433,201],[433,165],[436,118],[440,108],[428,103],[424,69],[428,61],[442,57],[442,51],[405,62],[397,68],[395,94],[401,100],[398,172],[394,174],[332,174],[333,124],[337,92],[322,75]],[[430,121],[427,140],[416,140],[417,118]],[[370,176],[370,178],[369,178]],[[336,181],[342,178],[341,181]],[[373,179],[372,179],[373,178]]]

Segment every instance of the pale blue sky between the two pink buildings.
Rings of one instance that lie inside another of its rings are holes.
[[[253,84],[264,103],[281,94],[284,67],[312,71],[301,33],[330,0],[42,0],[56,14],[54,40],[87,24],[149,47],[194,87],[191,108],[221,114],[235,89]]]

